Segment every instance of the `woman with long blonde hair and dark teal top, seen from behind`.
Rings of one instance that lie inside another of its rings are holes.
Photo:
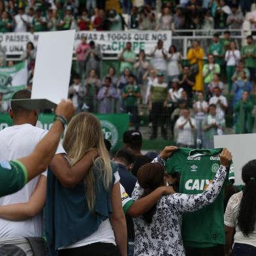
[[[63,166],[57,160],[50,165],[54,172],[48,172],[46,199],[50,249],[58,250],[59,256],[116,256],[118,250],[120,255],[127,255],[120,176],[104,146],[99,120],[89,113],[74,116],[63,147],[72,171],[80,178],[67,185]],[[88,161],[80,165],[84,157]]]

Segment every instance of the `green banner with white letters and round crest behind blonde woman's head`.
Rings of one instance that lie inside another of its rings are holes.
[[[103,136],[112,144],[111,150],[118,150],[123,145],[123,133],[129,129],[128,114],[95,115],[101,121]],[[42,129],[50,129],[54,121],[52,114],[40,114],[37,126]],[[12,125],[8,114],[0,114],[0,131]]]

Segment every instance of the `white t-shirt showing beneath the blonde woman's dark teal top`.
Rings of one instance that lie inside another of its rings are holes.
[[[114,184],[116,184],[120,181],[119,173],[115,172],[114,176],[115,176]],[[112,229],[112,225],[109,219],[106,219],[105,221],[103,221],[101,225],[99,225],[99,229],[97,229],[97,231],[95,231],[93,234],[91,234],[87,238],[84,238],[78,242],[75,242],[70,246],[63,246],[59,249],[78,248],[82,246],[87,246],[88,244],[95,244],[99,242],[110,243],[116,246],[114,231]]]

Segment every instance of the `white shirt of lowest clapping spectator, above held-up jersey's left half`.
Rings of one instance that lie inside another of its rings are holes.
[[[192,125],[196,128],[195,119],[190,118]],[[183,116],[180,116],[176,121],[176,127],[183,125],[186,119]],[[178,129],[178,138],[177,143],[193,146],[195,144],[194,131],[191,128],[189,121],[184,125],[183,129]]]

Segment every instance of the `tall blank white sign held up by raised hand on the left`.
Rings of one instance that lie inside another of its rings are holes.
[[[48,99],[56,104],[67,99],[74,33],[74,30],[40,33],[31,99]]]

